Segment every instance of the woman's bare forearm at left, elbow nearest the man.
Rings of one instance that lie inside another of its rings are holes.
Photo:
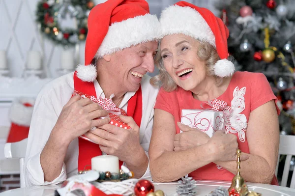
[[[150,172],[153,181],[172,182],[212,161],[204,144],[184,151],[165,151],[155,159],[150,157]]]

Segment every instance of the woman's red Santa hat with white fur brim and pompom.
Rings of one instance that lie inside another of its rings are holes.
[[[215,75],[229,77],[234,74],[235,66],[227,59],[229,30],[210,10],[179,1],[162,11],[160,25],[161,38],[181,33],[208,42],[216,48],[220,57],[214,65]]]

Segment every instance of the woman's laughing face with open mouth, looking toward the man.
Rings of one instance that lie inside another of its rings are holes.
[[[161,41],[163,64],[174,82],[193,90],[206,79],[206,64],[197,57],[200,42],[183,34],[167,35]]]

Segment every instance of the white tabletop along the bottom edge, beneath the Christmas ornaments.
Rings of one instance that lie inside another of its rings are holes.
[[[206,196],[209,192],[217,187],[229,188],[231,182],[229,181],[197,181],[197,195]],[[155,190],[161,189],[167,196],[177,196],[176,186],[177,182],[171,183],[154,183]],[[286,187],[247,183],[249,190],[255,190],[263,196],[295,196],[295,189]],[[35,186],[29,188],[13,189],[0,194],[0,196],[54,196],[54,192],[60,185]]]

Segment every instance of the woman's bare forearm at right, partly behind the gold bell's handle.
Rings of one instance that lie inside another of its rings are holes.
[[[274,176],[275,164],[270,166],[261,156],[247,155],[249,159],[241,162],[241,176],[248,182],[270,184]],[[236,161],[216,161],[214,163],[236,174]]]

